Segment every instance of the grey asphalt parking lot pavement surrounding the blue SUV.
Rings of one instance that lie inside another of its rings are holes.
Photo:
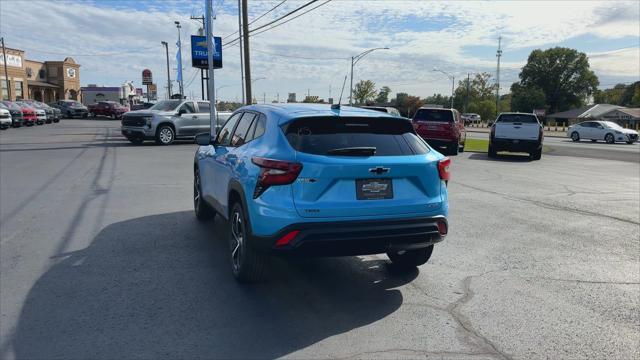
[[[195,145],[117,126],[0,136],[0,358],[640,356],[637,162],[461,154],[419,271],[276,260],[247,286],[193,215]]]

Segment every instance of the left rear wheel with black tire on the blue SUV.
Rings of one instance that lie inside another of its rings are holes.
[[[266,255],[253,248],[251,231],[245,219],[242,205],[234,203],[228,222],[231,271],[238,282],[252,283],[263,279]]]

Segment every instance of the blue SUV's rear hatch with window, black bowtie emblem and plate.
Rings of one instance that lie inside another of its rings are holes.
[[[398,118],[302,118],[283,126],[302,172],[302,217],[426,214],[441,206],[439,155]]]

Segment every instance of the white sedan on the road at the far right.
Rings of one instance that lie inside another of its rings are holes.
[[[584,121],[569,126],[567,137],[570,137],[573,141],[589,139],[593,142],[604,140],[608,144],[615,142],[633,144],[638,141],[638,132],[625,129],[611,121]]]

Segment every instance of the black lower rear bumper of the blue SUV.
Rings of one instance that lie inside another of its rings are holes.
[[[424,248],[444,240],[438,222],[448,228],[444,216],[394,220],[352,220],[292,224],[269,237],[255,237],[259,251],[283,256],[350,256],[380,254],[389,250]],[[297,235],[285,245],[276,242],[292,231]]]

